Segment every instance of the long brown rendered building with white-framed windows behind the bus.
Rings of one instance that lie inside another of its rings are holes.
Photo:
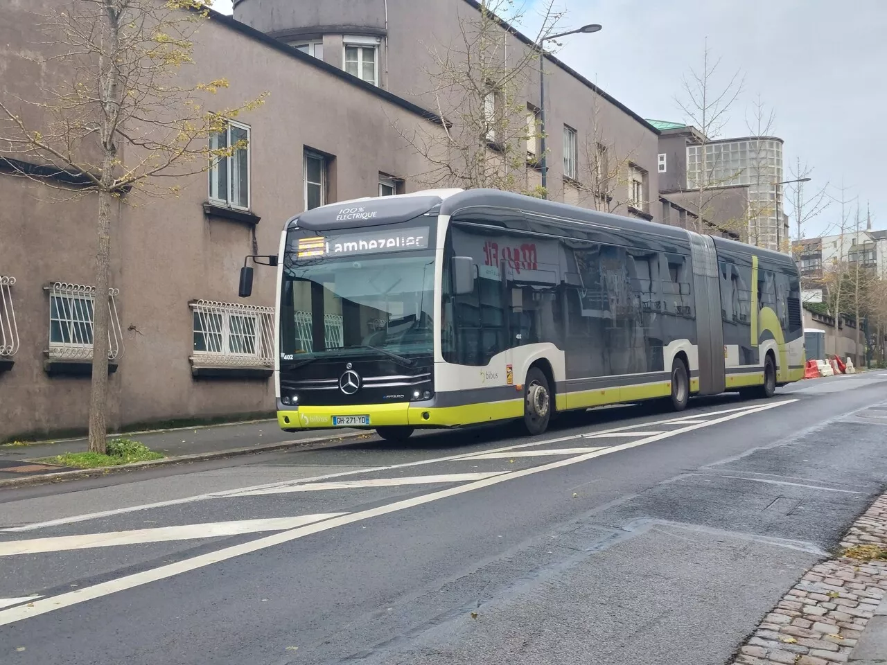
[[[4,7],[5,100],[34,99],[37,82],[70,80],[62,65],[35,66],[22,57],[46,42],[35,15],[62,4]],[[0,153],[0,441],[85,427],[96,307],[111,314],[114,428],[274,409],[275,278],[273,270],[257,269],[253,297],[239,301],[244,256],[275,253],[283,223],[306,208],[423,189],[428,160],[404,134],[421,131],[443,141],[440,109],[427,104],[425,83],[416,77],[428,53],[420,45],[456,39],[459,21],[477,12],[476,4],[389,0],[387,6],[386,23],[383,0],[240,0],[237,17],[259,29],[217,14],[200,27],[187,75],[231,83],[208,103],[236,106],[271,94],[212,139],[214,145],[244,140],[246,147],[208,174],[184,177],[177,197],[133,198],[138,206],[124,197],[114,209],[107,294],[91,286],[94,195],[59,202],[51,193],[58,190],[21,171],[75,193],[82,186],[76,174]],[[522,35],[510,32],[507,39],[509,50],[528,48]],[[612,211],[659,218],[658,130],[563,63],[550,58],[546,66],[547,133],[563,137],[550,140],[549,197],[600,205],[580,152],[600,144],[624,165]],[[528,82],[526,95],[528,109],[538,107],[538,78]],[[595,105],[598,112],[586,113]],[[26,124],[39,125],[33,109],[23,106],[21,114]],[[529,161],[531,184],[538,168]],[[679,223],[683,208],[669,207]],[[685,209],[687,215],[692,211]]]

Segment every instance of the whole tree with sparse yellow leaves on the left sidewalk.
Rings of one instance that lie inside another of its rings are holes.
[[[211,0],[210,0],[211,1]],[[93,307],[90,450],[106,450],[112,207],[138,195],[177,195],[181,178],[244,145],[211,148],[227,121],[258,98],[210,112],[204,100],[224,78],[188,82],[192,37],[208,18],[208,0],[68,0],[38,16],[45,42],[29,56],[47,73],[38,97],[0,98],[0,156],[14,176],[53,188],[62,198],[96,201],[96,305]],[[36,164],[42,169],[29,168]],[[43,177],[76,176],[72,190]],[[135,198],[134,198],[135,197]]]

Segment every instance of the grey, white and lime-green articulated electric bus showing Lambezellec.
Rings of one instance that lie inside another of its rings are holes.
[[[255,260],[255,258],[254,258]],[[280,239],[275,382],[287,430],[517,420],[804,377],[790,256],[495,190],[314,208]],[[252,289],[252,268],[240,276]]]

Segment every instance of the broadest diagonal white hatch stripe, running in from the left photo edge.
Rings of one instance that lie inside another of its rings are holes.
[[[16,554],[37,554],[39,552],[67,552],[87,550],[91,547],[114,547],[139,543],[164,543],[172,540],[196,540],[219,536],[238,536],[263,531],[286,531],[303,527],[311,522],[329,520],[346,512],[326,512],[299,517],[278,517],[265,520],[239,520],[231,522],[211,522],[208,524],[184,524],[177,527],[137,528],[130,531],[109,531],[104,534],[81,534],[79,536],[56,536],[53,538],[33,538],[30,540],[7,540],[0,542],[0,557]]]

